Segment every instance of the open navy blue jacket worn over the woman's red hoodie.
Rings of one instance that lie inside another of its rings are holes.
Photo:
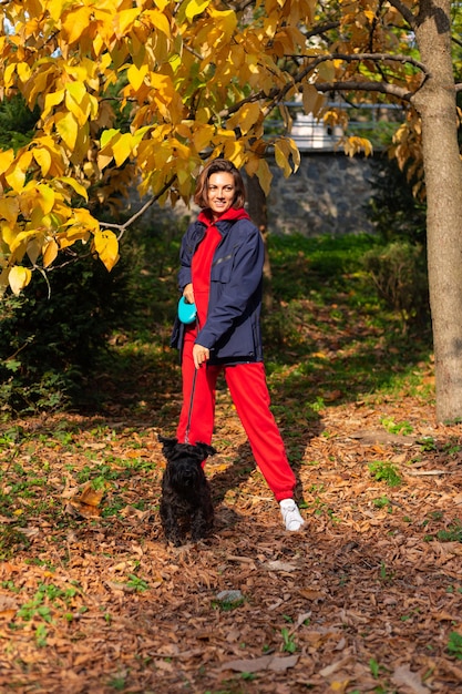
[[[222,241],[215,249],[211,269],[207,319],[196,343],[211,351],[211,364],[261,361],[261,284],[264,245],[261,235],[245,213],[243,218],[215,223]],[[187,228],[179,253],[178,286],[192,282],[193,255],[204,238],[206,225],[196,220]],[[184,326],[176,318],[172,347],[182,349]]]

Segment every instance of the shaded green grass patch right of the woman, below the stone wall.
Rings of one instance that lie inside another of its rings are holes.
[[[264,335],[279,401],[300,394],[312,408],[319,400],[328,406],[424,388],[415,365],[428,363],[430,336],[404,330],[378,299],[361,263],[377,243],[369,236],[270,238],[274,302]]]

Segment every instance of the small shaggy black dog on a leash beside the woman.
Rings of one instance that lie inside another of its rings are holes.
[[[165,538],[178,547],[191,531],[191,539],[196,542],[214,524],[211,487],[201,463],[216,450],[207,443],[191,446],[163,436],[158,440],[167,460],[160,509]]]

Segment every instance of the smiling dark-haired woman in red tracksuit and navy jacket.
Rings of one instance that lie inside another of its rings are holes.
[[[194,325],[175,323],[172,346],[182,353],[183,408],[178,441],[211,443],[215,392],[224,371],[257,465],[280,504],[287,530],[304,519],[294,501],[295,476],[269,409],[263,363],[260,308],[264,246],[244,210],[240,173],[213,160],[201,173],[194,202],[202,207],[181,249],[179,289],[197,308]]]

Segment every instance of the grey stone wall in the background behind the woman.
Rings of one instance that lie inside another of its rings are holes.
[[[275,163],[268,196],[268,228],[273,234],[372,233],[365,206],[372,193],[371,160],[348,157],[335,152],[306,152],[300,167],[288,178]],[[186,226],[198,210],[176,205],[174,210],[152,207],[151,222],[167,225],[174,221]]]

